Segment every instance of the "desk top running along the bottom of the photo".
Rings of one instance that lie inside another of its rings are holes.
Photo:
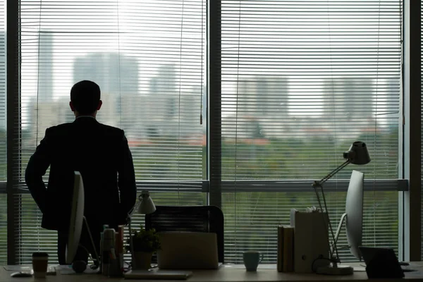
[[[358,266],[358,264],[351,264]],[[423,262],[412,263],[412,268],[417,271],[406,272],[405,278],[413,281],[423,281]],[[6,270],[9,269],[9,270]],[[14,278],[10,274],[16,272],[16,269],[10,270],[8,266],[3,266],[0,269],[1,282],[29,282],[29,281],[78,281],[78,282],[95,282],[95,281],[136,281],[125,280],[124,278],[109,278],[101,274],[74,274],[71,271],[57,271],[56,276],[47,276],[43,279],[34,279],[32,277]],[[266,264],[260,265],[256,272],[245,271],[243,266],[233,265],[225,266],[219,270],[200,270],[192,271],[193,275],[188,278],[188,282],[276,282],[276,281],[370,281],[367,278],[365,271],[355,271],[353,275],[348,276],[324,276],[319,274],[295,274],[283,273],[276,271],[274,266]],[[66,274],[67,273],[67,274]],[[377,281],[377,280],[376,280]],[[403,281],[403,279],[396,279],[390,281]],[[179,281],[180,282],[180,281]]]

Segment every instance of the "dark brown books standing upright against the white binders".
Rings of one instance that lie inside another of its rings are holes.
[[[278,226],[278,271],[294,271],[294,227]]]

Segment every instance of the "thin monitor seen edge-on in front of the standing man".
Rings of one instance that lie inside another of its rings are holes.
[[[68,243],[66,244],[66,264],[72,264],[78,250],[84,220],[84,183],[79,171],[74,172],[71,220],[69,222]]]

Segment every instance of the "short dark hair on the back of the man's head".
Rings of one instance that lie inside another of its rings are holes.
[[[71,102],[80,114],[92,114],[100,102],[100,87],[90,80],[75,83],[71,89]]]

